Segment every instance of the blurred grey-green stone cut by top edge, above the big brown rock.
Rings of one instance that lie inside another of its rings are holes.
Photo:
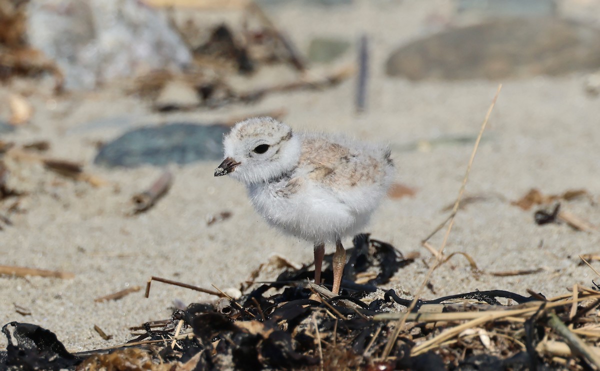
[[[457,12],[474,17],[551,17],[555,0],[458,0]]]

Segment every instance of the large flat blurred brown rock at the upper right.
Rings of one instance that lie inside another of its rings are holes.
[[[500,19],[402,46],[389,76],[410,80],[557,76],[600,67],[600,30],[561,19]]]

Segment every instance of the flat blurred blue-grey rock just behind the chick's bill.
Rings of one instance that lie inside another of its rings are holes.
[[[104,145],[94,163],[107,167],[136,167],[220,160],[223,134],[229,130],[225,125],[187,123],[138,128]]]

